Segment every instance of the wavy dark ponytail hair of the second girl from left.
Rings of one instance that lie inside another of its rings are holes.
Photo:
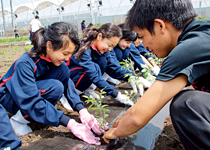
[[[100,28],[96,28],[96,27],[90,27],[87,28],[84,33],[83,33],[83,37],[80,39],[80,42],[83,44],[80,46],[79,50],[76,51],[75,53],[75,57],[77,59],[80,59],[83,55],[83,53],[88,50],[88,48],[90,47],[90,45],[93,43],[93,41],[96,39],[97,35],[101,33],[102,34],[102,38],[112,38],[112,37],[122,37],[122,31],[121,29],[113,24],[113,23],[106,23],[103,24]]]

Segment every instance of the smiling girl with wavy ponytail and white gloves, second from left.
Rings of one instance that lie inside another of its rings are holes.
[[[70,78],[74,81],[75,87],[82,93],[93,83],[98,88],[104,89],[106,94],[111,95],[121,103],[133,105],[127,100],[128,97],[114,89],[108,84],[102,75],[106,71],[110,76],[121,80],[126,73],[121,66],[115,63],[110,52],[119,42],[121,30],[112,23],[103,24],[99,29],[95,27],[87,28],[83,34],[81,42],[84,43],[76,54],[66,63],[70,69]],[[130,73],[127,71],[127,73]],[[92,88],[92,89],[91,89]],[[84,94],[93,95],[95,87],[89,88],[92,92]],[[95,96],[95,98],[98,98]]]

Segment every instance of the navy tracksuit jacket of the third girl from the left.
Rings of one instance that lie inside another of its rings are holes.
[[[124,50],[122,50],[119,46],[116,46],[113,50],[119,62],[130,58],[134,62],[134,68],[138,68],[139,70],[143,69],[141,64],[145,65],[145,63],[133,43],[131,43],[130,47],[127,47]]]

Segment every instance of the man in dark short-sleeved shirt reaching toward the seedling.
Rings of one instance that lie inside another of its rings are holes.
[[[126,23],[164,60],[156,81],[104,139],[137,132],[173,98],[170,115],[185,149],[210,149],[210,20],[196,21],[190,0],[136,0]],[[196,90],[182,90],[193,85]]]

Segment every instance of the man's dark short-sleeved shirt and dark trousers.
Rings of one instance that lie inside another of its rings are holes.
[[[170,106],[174,128],[186,149],[210,149],[209,66],[210,20],[192,20],[164,60],[156,78],[169,81],[184,74],[188,85],[195,88],[178,93]]]

